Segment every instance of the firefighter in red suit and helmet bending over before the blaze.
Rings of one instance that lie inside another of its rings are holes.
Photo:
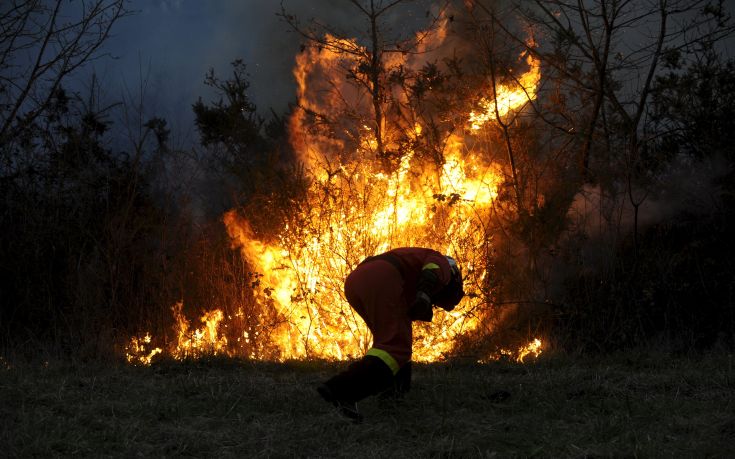
[[[373,347],[317,391],[343,416],[362,420],[356,403],[401,396],[411,385],[411,322],[431,322],[433,305],[451,311],[464,296],[457,262],[421,247],[369,257],[345,280],[345,296],[373,334]]]

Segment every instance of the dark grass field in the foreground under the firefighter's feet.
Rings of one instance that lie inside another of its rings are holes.
[[[732,457],[728,354],[414,369],[354,425],[314,387],[326,362],[0,367],[0,456]]]

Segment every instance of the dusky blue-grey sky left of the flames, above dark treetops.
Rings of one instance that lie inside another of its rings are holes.
[[[301,39],[276,16],[280,0],[134,0],[129,5],[135,13],[117,23],[103,49],[112,58],[88,70],[97,74],[109,100],[125,91],[139,94],[145,80],[148,114],[168,119],[182,142],[192,140],[186,138],[191,104],[199,96],[211,97],[203,84],[210,67],[226,76],[229,63],[242,58],[261,114],[282,113],[295,100],[291,70]],[[344,24],[354,17],[344,0],[284,5],[304,22],[319,17]]]

